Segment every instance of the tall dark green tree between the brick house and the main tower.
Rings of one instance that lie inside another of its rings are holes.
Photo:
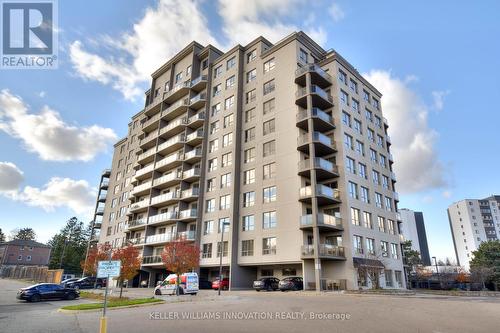
[[[80,274],[89,237],[90,229],[76,217],[70,218],[48,242],[52,247],[49,269],[62,268],[66,273]]]

